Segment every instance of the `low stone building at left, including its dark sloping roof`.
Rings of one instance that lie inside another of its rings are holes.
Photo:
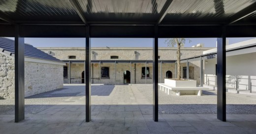
[[[0,38],[0,99],[14,99],[15,58],[12,49],[1,47],[3,42],[10,43],[10,47],[14,45],[13,40]],[[42,58],[32,57],[30,51]],[[25,97],[63,88],[64,62],[28,44],[25,44],[25,54]]]

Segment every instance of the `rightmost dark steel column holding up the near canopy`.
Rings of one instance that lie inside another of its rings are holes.
[[[217,118],[226,121],[226,37],[217,38]]]

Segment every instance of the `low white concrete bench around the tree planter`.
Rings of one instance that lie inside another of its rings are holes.
[[[180,96],[181,94],[196,94],[198,96],[202,95],[202,90],[208,90],[209,88],[206,87],[171,87],[164,83],[158,83],[160,86],[160,90],[164,91],[168,95],[170,91],[176,93],[176,95]]]

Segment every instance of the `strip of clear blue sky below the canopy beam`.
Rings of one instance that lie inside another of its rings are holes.
[[[227,38],[229,44],[253,39]],[[14,38],[10,38],[14,39]],[[203,43],[204,47],[215,47],[217,38],[190,38],[191,43],[186,42],[185,47]],[[167,47],[165,38],[159,39],[159,47]],[[92,47],[152,47],[152,38],[92,38]],[[34,47],[85,47],[85,38],[25,38],[25,42]]]

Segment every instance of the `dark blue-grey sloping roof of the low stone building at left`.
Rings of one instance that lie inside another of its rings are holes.
[[[14,40],[4,38],[4,37],[0,37],[0,48],[2,48],[4,51],[8,51],[8,52],[14,54],[15,53],[14,46],[15,46],[14,45]],[[24,52],[25,52],[24,55],[28,56],[28,57],[34,57],[34,58],[40,58],[40,59],[62,62],[60,59],[57,59],[56,57],[54,57],[52,55],[46,54],[46,53],[42,52],[41,50],[33,47],[30,44],[25,43]]]

